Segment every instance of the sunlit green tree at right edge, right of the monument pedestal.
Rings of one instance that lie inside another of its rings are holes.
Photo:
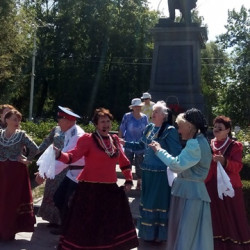
[[[215,113],[230,116],[235,124],[250,124],[250,9],[228,12],[227,32],[218,37],[218,44],[230,53],[231,74],[224,88],[218,91]]]

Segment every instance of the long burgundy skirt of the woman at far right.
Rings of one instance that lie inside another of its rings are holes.
[[[234,188],[233,198],[218,197],[217,181],[206,184],[211,198],[211,215],[215,250],[250,250],[250,228],[247,222],[242,188]]]

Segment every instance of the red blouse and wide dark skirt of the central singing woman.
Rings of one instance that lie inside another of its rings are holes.
[[[116,135],[84,134],[75,149],[58,160],[85,156],[85,167],[72,201],[58,249],[131,249],[138,239],[123,188],[116,184],[116,164],[132,184],[130,163]]]

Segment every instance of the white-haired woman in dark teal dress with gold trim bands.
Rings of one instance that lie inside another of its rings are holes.
[[[167,239],[168,210],[171,188],[166,176],[166,165],[148,147],[153,140],[172,155],[181,151],[179,135],[172,126],[172,113],[163,101],[153,106],[152,122],[143,132],[139,142],[121,140],[125,149],[145,149],[142,163],[142,190],[139,237],[146,241],[161,242]]]

